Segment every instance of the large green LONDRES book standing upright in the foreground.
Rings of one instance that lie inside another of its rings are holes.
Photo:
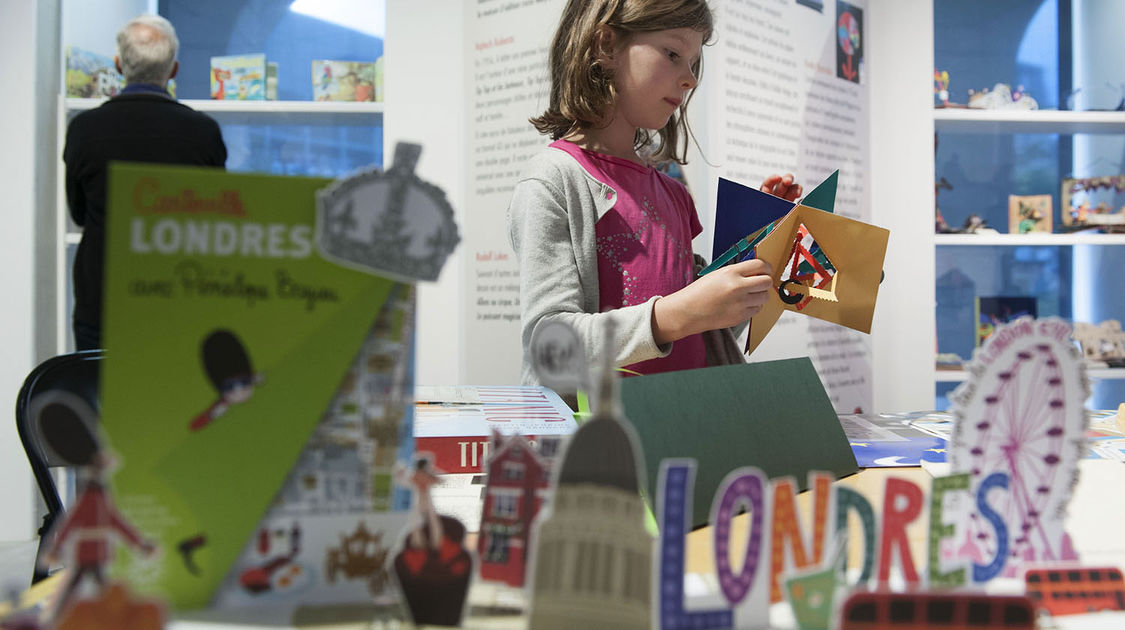
[[[414,287],[326,258],[328,183],[110,170],[104,428],[161,548],[115,572],[174,608],[395,598]]]

